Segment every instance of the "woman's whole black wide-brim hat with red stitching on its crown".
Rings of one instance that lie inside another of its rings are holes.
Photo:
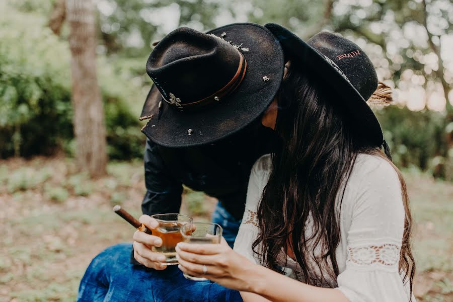
[[[330,32],[321,32],[307,42],[281,25],[265,27],[280,41],[286,60],[297,60],[325,83],[341,102],[347,122],[364,146],[388,146],[378,119],[366,101],[378,88],[378,75],[365,52],[352,41]],[[388,152],[390,156],[390,151]]]

